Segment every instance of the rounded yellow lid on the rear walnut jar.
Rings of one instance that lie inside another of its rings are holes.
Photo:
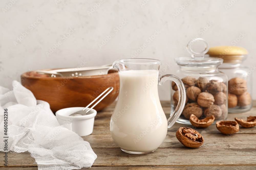
[[[222,58],[224,63],[240,63],[248,54],[248,51],[237,46],[216,46],[210,47],[206,54],[209,54],[210,57]]]

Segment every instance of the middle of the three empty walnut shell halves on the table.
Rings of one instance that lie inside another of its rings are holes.
[[[216,127],[223,134],[233,134],[239,131],[236,121],[219,121],[216,122]]]

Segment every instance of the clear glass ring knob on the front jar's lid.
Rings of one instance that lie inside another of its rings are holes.
[[[193,51],[193,50],[191,49],[191,46],[192,46],[195,42],[197,42],[197,41],[201,41],[201,42],[203,42],[204,45],[205,45],[205,49],[204,49],[202,52],[200,52],[200,53],[197,53],[197,52],[195,52],[195,51]],[[205,41],[205,40],[202,39],[202,38],[195,38],[194,40],[191,40],[191,41],[188,43],[188,45],[187,45],[186,48],[187,48],[188,53],[191,54],[191,57],[192,57],[192,58],[204,58],[205,54],[206,54],[206,53],[208,52],[208,50],[209,50],[209,44],[207,43],[207,41]]]

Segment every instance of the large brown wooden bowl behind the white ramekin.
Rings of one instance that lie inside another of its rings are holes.
[[[51,70],[51,69],[45,69]],[[119,93],[118,72],[110,70],[106,75],[80,77],[49,77],[35,71],[23,73],[21,83],[31,90],[37,100],[50,104],[52,112],[69,107],[86,107],[106,88],[114,87],[94,109],[99,111],[109,106]]]

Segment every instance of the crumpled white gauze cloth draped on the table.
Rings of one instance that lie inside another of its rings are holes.
[[[6,108],[7,135],[4,134]],[[97,158],[90,143],[70,130],[71,124],[60,126],[49,104],[36,100],[17,81],[13,81],[11,91],[0,86],[0,121],[0,139],[8,137],[7,151],[30,152],[38,169],[81,169],[91,167]],[[4,151],[4,146],[1,142],[0,151]]]

